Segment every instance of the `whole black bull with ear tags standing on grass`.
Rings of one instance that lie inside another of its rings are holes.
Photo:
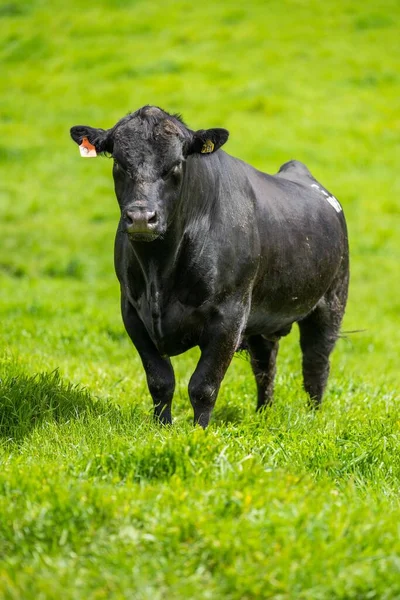
[[[156,417],[171,422],[169,357],[193,346],[201,350],[189,382],[195,423],[208,424],[225,372],[243,347],[257,406],[268,405],[279,339],[294,322],[304,387],[318,406],[349,280],[346,223],[336,198],[302,163],[262,173],[219,150],[225,129],[194,132],[156,107],[109,130],[73,127],[71,136],[114,158],[122,317]]]

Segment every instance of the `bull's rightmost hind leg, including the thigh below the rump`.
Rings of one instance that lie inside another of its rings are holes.
[[[299,321],[304,389],[318,408],[328,381],[329,357],[339,337],[347,300],[348,275],[337,281],[316,308]]]

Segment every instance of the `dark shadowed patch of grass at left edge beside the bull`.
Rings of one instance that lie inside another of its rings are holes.
[[[107,415],[121,409],[93,398],[84,388],[62,380],[59,372],[6,375],[0,380],[0,438],[19,441],[42,423]]]

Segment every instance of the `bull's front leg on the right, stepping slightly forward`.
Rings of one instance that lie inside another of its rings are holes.
[[[247,318],[247,307],[220,307],[204,329],[201,356],[189,382],[194,424],[207,427],[226,370],[237,350]]]

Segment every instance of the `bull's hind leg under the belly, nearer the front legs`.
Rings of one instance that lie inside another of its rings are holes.
[[[247,339],[247,344],[257,384],[257,410],[261,410],[272,402],[279,342],[253,335]]]

